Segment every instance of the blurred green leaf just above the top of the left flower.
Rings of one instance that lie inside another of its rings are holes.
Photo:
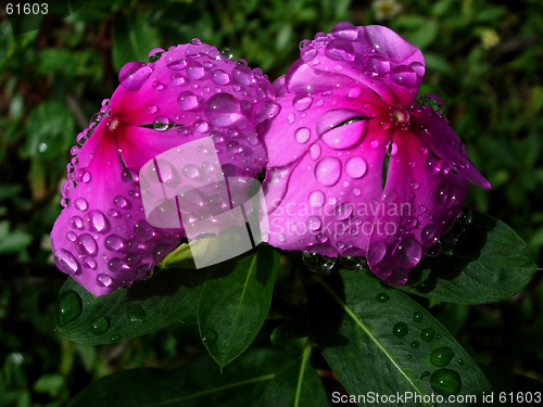
[[[113,23],[113,67],[121,71],[131,61],[148,61],[149,51],[159,47],[160,37],[143,16],[134,11]]]

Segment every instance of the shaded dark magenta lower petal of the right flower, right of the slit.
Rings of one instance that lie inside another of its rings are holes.
[[[397,129],[393,142],[367,259],[378,277],[403,285],[459,214],[468,183],[445,167],[429,165],[435,157],[411,130]]]

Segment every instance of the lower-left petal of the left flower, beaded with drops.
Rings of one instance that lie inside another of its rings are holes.
[[[86,170],[91,178],[73,191],[53,226],[51,243],[62,271],[92,294],[104,295],[144,278],[175,249],[180,230],[147,224],[139,186],[111,138],[100,144]]]

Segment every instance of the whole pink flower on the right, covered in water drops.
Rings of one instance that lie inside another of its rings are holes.
[[[281,113],[265,136],[268,242],[367,257],[378,277],[404,284],[459,214],[467,181],[490,185],[441,100],[416,102],[416,47],[386,27],[339,23],[300,48],[274,84]]]

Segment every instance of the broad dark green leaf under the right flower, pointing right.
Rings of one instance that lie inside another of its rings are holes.
[[[417,295],[459,304],[509,298],[531,280],[538,265],[527,244],[504,222],[472,211],[462,243],[443,246],[425,257],[401,289]]]

